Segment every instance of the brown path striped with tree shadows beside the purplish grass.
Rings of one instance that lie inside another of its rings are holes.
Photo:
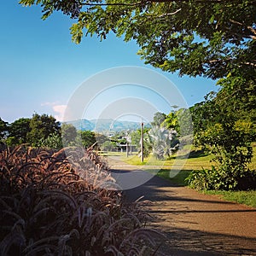
[[[118,160],[110,160],[110,166],[115,173],[135,171]],[[166,255],[256,255],[256,208],[177,187],[160,177],[125,190],[125,195],[130,201],[142,195],[152,201],[151,226],[166,235],[161,247]]]

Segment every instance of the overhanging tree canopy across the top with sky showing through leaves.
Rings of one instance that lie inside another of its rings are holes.
[[[73,41],[115,33],[136,40],[146,63],[180,75],[222,78],[234,68],[255,72],[255,0],[20,0],[76,20]]]

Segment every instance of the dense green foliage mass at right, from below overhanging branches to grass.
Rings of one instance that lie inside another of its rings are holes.
[[[244,87],[243,96],[237,100],[239,81]],[[230,89],[235,82],[237,89]],[[250,111],[256,104],[255,81],[240,76],[219,83],[223,90],[191,108],[195,144],[215,155],[215,165],[212,170],[192,172],[189,185],[197,189],[256,189],[256,174],[248,168],[255,141],[256,122]]]

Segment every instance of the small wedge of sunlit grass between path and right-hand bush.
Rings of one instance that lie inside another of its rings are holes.
[[[226,201],[235,201],[237,203],[256,208],[256,191],[207,190],[204,191],[204,193],[207,195],[219,195],[219,197],[223,198]]]

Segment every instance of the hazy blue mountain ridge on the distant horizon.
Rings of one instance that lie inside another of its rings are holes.
[[[68,121],[67,124],[72,124],[77,130],[81,131],[125,131],[140,129],[141,123],[133,121],[119,121],[113,119],[80,119]],[[145,124],[145,127],[150,127],[150,124]]]

